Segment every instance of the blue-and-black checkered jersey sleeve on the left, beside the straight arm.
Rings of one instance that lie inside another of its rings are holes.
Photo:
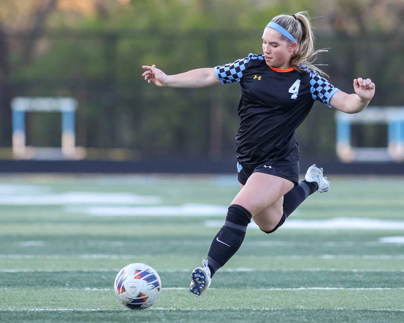
[[[262,55],[255,55],[250,53],[246,58],[239,59],[233,63],[219,65],[215,67],[215,75],[220,83],[234,83],[240,82],[243,71],[248,67],[250,60],[263,60]]]

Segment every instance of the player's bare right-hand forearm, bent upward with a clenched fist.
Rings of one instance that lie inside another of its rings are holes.
[[[358,113],[368,106],[375,95],[375,83],[371,79],[354,79],[355,94],[336,92],[330,99],[330,104],[345,113]]]

